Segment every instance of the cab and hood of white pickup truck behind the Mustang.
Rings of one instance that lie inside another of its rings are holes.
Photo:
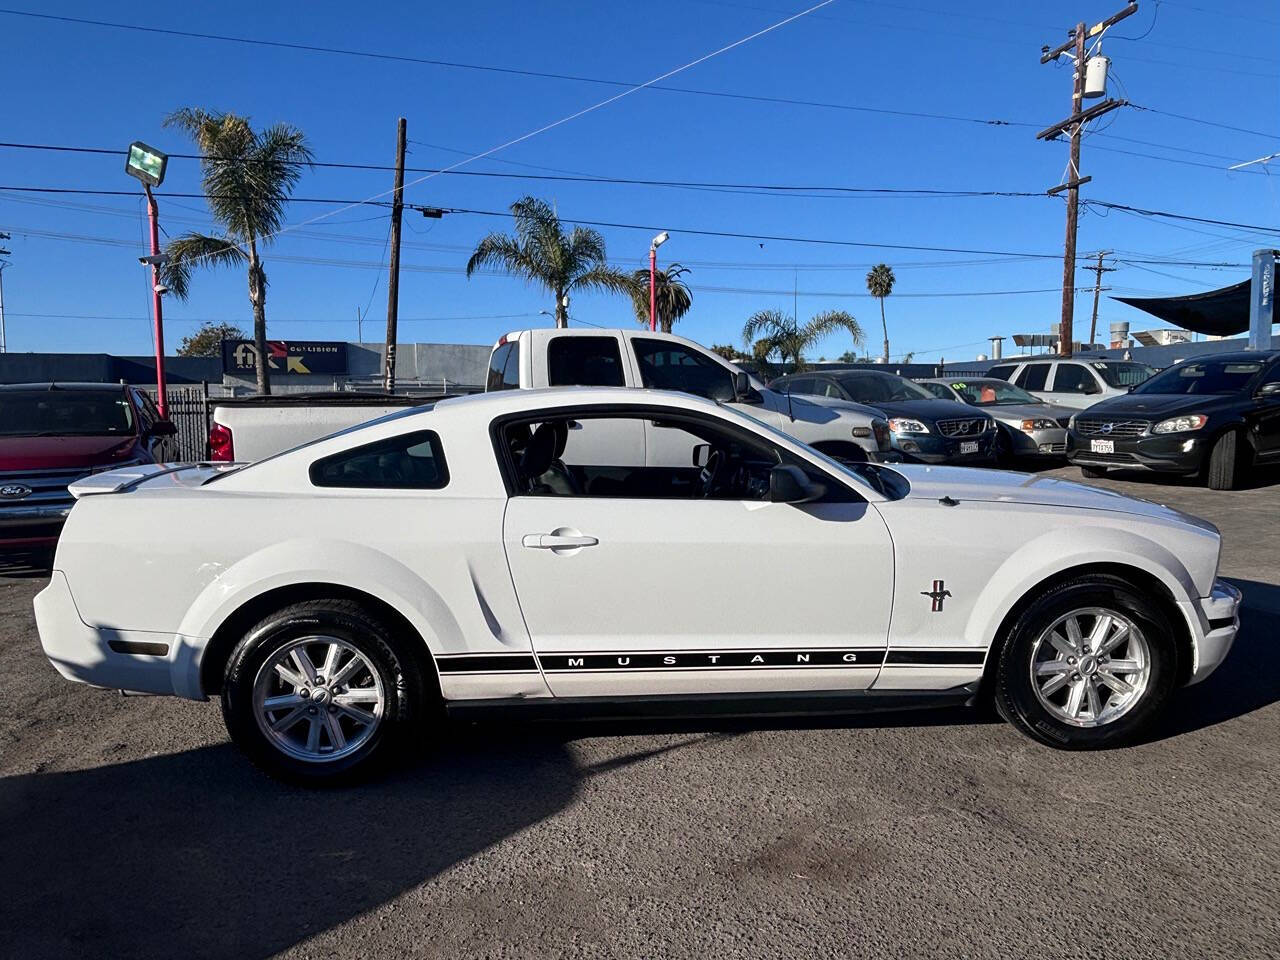
[[[836,460],[896,460],[890,449],[888,421],[881,411],[828,397],[771,390],[719,355],[669,333],[540,329],[499,339],[489,356],[485,390],[539,387],[681,390],[740,410]],[[570,445],[585,442],[588,433],[599,429],[598,422],[580,424]],[[630,429],[641,429],[640,421],[631,421]],[[614,449],[617,457],[635,457],[644,451],[649,466],[689,463],[690,452],[682,445],[671,449],[667,440],[672,431],[663,431],[660,424],[648,424],[644,429],[644,438],[611,434],[593,435],[590,442],[594,451],[603,444]]]

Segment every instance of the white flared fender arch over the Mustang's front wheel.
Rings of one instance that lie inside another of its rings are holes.
[[[991,645],[1005,617],[1037,584],[1069,570],[1103,563],[1137,567],[1152,575],[1176,602],[1199,595],[1187,566],[1151,538],[1115,527],[1061,527],[1023,544],[996,570],[969,613],[965,644]]]

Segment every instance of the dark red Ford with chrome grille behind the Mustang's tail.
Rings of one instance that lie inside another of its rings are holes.
[[[52,547],[72,508],[68,484],[177,458],[177,434],[137,387],[0,384],[0,548]]]

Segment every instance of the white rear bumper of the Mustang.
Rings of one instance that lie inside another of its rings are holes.
[[[141,694],[179,692],[174,677],[182,644],[174,636],[90,626],[60,570],[36,594],[35,607],[45,655],[68,680]]]

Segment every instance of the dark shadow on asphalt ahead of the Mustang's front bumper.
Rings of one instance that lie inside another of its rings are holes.
[[[1280,586],[1228,579],[1244,593],[1231,652],[1207,678],[1174,694],[1151,740],[1211,727],[1280,701]]]

